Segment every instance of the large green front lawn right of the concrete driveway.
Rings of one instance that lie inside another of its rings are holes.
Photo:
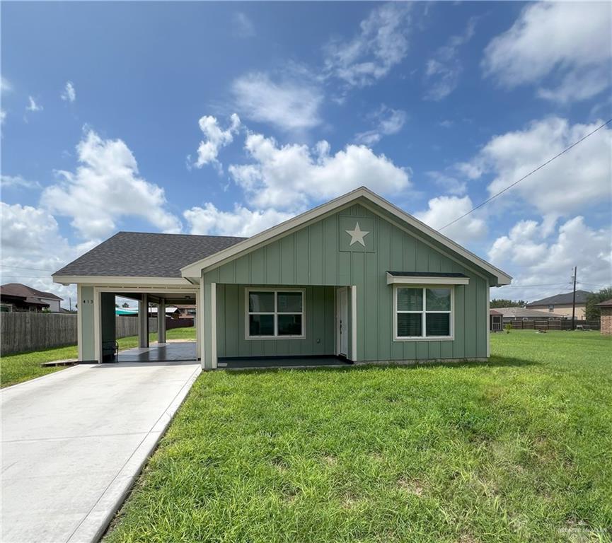
[[[611,340],[203,373],[105,541],[609,542]]]

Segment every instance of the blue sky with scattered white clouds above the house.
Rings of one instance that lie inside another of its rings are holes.
[[[2,2],[1,274],[253,235],[361,185],[514,277],[612,283],[612,4]]]

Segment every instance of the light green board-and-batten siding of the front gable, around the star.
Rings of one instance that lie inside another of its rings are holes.
[[[374,221],[374,232],[370,234],[375,236],[373,252],[339,250],[339,235],[342,234],[339,217],[345,216],[367,217]],[[229,332],[219,328],[225,327],[227,321],[243,321],[244,308],[240,300],[243,300],[245,286],[356,286],[357,356],[354,359],[357,361],[486,358],[487,279],[457,260],[379,214],[354,204],[206,271],[204,296],[207,293],[209,296],[211,284],[217,285],[217,340],[225,341],[224,352],[229,352]],[[386,284],[388,270],[458,272],[470,278],[468,285],[454,287],[453,340],[393,341],[393,287]],[[220,290],[221,285],[230,284],[236,286],[238,292],[233,290],[233,295],[224,297],[220,304],[221,293],[225,296],[226,292]],[[312,310],[312,305],[307,304],[307,311]],[[335,317],[333,305],[330,311]],[[311,341],[308,328],[306,336],[307,341]],[[273,341],[277,340],[266,340],[267,343]],[[238,344],[236,348],[240,353],[241,346]],[[274,349],[273,346],[262,348]],[[209,354],[209,349],[205,350]],[[250,356],[243,352],[244,355],[239,356]],[[218,355],[221,356],[220,351]]]

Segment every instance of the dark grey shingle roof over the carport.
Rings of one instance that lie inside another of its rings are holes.
[[[119,232],[54,275],[180,277],[180,269],[246,238]]]

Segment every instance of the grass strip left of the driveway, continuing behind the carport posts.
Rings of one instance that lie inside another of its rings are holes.
[[[195,339],[195,328],[175,328],[166,332],[167,339]],[[157,334],[150,334],[149,341],[157,341]],[[119,349],[132,349],[138,346],[138,337],[122,337],[117,340]],[[63,370],[66,366],[40,366],[45,362],[77,358],[76,345],[32,351],[30,353],[9,354],[0,359],[0,385],[8,387],[23,383],[54,371]]]

